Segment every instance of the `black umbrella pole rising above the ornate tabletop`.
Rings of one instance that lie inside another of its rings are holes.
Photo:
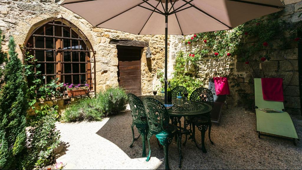
[[[168,60],[168,0],[165,0],[165,79],[168,80],[167,76],[167,60]],[[167,104],[167,82],[165,81],[165,104]]]

